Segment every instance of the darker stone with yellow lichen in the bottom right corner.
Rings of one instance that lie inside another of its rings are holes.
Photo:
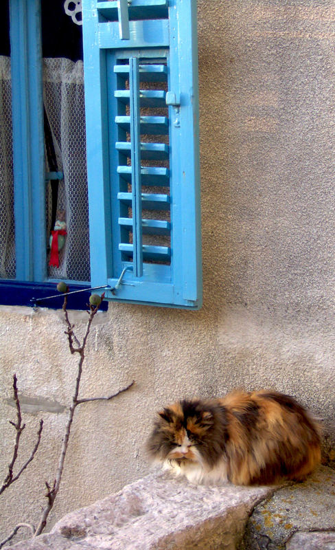
[[[296,531],[332,530],[335,530],[335,472],[321,466],[303,483],[283,487],[255,507],[241,550],[284,550]],[[304,548],[301,545],[300,549]]]

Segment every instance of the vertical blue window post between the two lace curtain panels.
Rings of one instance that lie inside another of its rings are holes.
[[[46,276],[40,0],[10,0],[16,278]]]

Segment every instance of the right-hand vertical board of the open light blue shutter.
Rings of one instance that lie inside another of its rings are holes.
[[[183,24],[180,24],[181,21]],[[170,162],[175,166],[172,178],[178,175],[178,181],[174,182],[176,195],[172,219],[178,224],[176,233],[178,239],[181,237],[180,250],[186,254],[186,261],[181,261],[183,254],[178,254],[174,263],[174,278],[178,278],[181,284],[178,292],[185,300],[197,300],[202,289],[196,36],[196,1],[174,1],[170,8],[170,90],[179,96],[181,108],[180,126],[172,124],[170,132],[174,157]],[[192,60],[192,63],[187,63],[187,60]],[[173,107],[170,107],[170,113],[170,120],[173,120]],[[187,151],[192,151],[192,154]]]

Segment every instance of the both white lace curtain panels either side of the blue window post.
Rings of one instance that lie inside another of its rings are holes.
[[[58,170],[58,212],[65,212],[67,236],[60,267],[51,278],[89,281],[89,212],[86,178],[84,78],[82,61],[43,59],[44,103],[54,139]],[[0,276],[15,276],[10,59],[0,56]],[[47,171],[49,167],[47,166]],[[46,184],[47,242],[51,228],[51,188]]]

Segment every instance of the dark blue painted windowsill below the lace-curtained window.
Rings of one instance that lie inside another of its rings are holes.
[[[49,300],[43,300],[47,296],[57,294],[56,286],[57,283],[28,283],[26,281],[2,279],[0,281],[0,305],[24,305],[62,309],[64,297],[61,295]],[[89,287],[87,283],[69,283],[69,292],[87,287]],[[90,296],[90,291],[71,294],[67,299],[67,309],[87,309]],[[106,300],[101,303],[100,309],[102,311],[108,309],[108,302]]]

